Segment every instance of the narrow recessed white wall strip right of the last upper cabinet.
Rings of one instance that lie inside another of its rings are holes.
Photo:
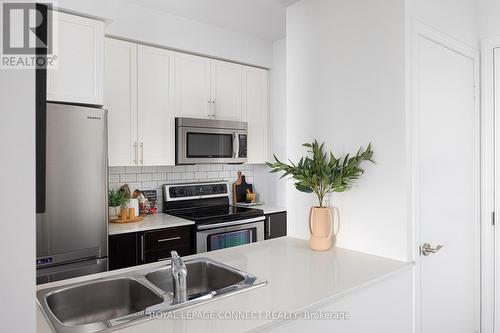
[[[286,40],[273,44],[273,66],[270,71],[269,138],[271,156],[286,158]],[[271,157],[270,157],[271,160]],[[278,174],[269,173],[266,165],[255,165],[255,185],[259,200],[269,205],[286,206],[286,183]]]

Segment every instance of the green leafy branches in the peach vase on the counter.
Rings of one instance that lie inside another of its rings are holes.
[[[374,163],[371,144],[365,150],[360,148],[352,157],[347,154],[340,158],[336,158],[332,152],[324,153],[324,143],[319,144],[316,140],[302,146],[309,148],[308,153],[312,157],[302,157],[297,163],[289,161],[290,164],[286,164],[274,155],[275,162],[266,164],[272,169],[271,172],[283,172],[281,178],[289,176],[294,179],[297,190],[315,193],[319,207],[324,207],[323,202],[328,193],[344,192],[351,188],[353,182],[364,173],[360,168],[362,162]]]

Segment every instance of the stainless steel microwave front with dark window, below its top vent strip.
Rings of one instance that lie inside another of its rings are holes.
[[[245,163],[247,131],[178,127],[176,164]]]

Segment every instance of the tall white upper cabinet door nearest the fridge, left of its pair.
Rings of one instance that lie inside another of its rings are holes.
[[[104,107],[110,166],[138,163],[137,44],[106,38]]]

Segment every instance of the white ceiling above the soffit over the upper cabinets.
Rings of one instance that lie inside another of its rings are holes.
[[[285,37],[286,7],[299,0],[125,0],[267,40]]]

